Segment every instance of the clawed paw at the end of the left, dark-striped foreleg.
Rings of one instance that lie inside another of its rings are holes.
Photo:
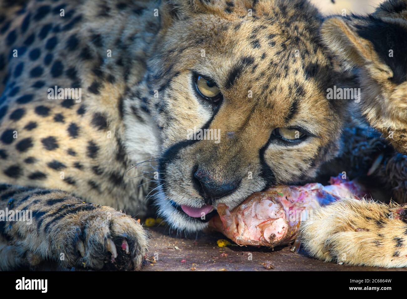
[[[147,253],[148,234],[140,223],[110,207],[83,204],[60,219],[51,235],[67,268],[138,270]]]

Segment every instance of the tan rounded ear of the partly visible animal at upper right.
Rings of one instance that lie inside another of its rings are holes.
[[[372,42],[360,37],[350,21],[331,17],[321,28],[325,45],[344,62],[345,69],[364,68],[377,79],[393,77],[392,69],[379,57]]]

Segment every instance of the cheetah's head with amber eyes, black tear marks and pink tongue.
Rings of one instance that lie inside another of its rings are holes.
[[[219,203],[234,208],[253,192],[307,181],[338,151],[346,104],[326,98],[339,83],[316,12],[304,4],[285,19],[267,5],[258,17],[235,2],[236,13],[181,18],[154,48],[158,203],[174,228],[201,230]]]

